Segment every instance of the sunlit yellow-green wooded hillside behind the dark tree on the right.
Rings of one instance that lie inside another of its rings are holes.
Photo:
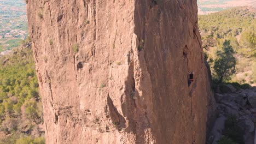
[[[235,51],[236,74],[231,82],[256,86],[256,19],[255,10],[237,7],[209,15],[199,15],[199,27],[203,48],[211,65],[225,40]],[[212,65],[211,65],[212,66]]]

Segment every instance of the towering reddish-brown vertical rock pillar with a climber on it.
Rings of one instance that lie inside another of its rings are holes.
[[[195,0],[28,0],[27,15],[46,143],[205,143]]]

